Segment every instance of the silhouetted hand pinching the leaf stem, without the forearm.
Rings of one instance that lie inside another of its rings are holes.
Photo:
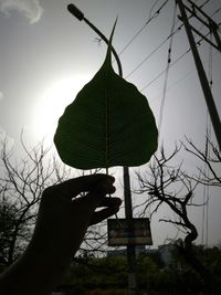
[[[48,188],[42,196],[39,218],[33,235],[36,244],[56,246],[62,255],[78,250],[87,226],[115,214],[122,203],[114,193],[115,179],[106,175],[92,175],[67,180]],[[85,197],[78,197],[87,192]],[[96,212],[99,207],[105,209]],[[46,243],[46,244],[45,244]]]

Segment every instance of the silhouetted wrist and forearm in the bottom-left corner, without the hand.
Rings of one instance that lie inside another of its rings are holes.
[[[62,256],[62,255],[61,255]],[[62,282],[69,266],[55,255],[53,249],[35,241],[35,236],[24,253],[2,274],[2,295],[48,295]]]

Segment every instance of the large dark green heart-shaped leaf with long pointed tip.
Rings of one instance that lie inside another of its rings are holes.
[[[59,120],[54,143],[61,159],[74,168],[140,166],[157,149],[146,97],[113,70],[114,29],[104,64]]]

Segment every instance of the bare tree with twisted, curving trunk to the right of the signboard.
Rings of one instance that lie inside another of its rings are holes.
[[[191,147],[194,146],[189,141]],[[182,161],[176,164],[176,156],[180,151],[181,144],[179,147],[176,146],[175,150],[167,156],[164,148],[161,148],[159,156],[155,155],[154,161],[149,165],[148,171],[145,173],[137,173],[139,190],[138,193],[145,193],[146,200],[143,203],[143,213],[151,208],[151,215],[157,212],[161,204],[167,204],[173,213],[173,218],[160,219],[160,221],[173,224],[179,231],[185,233],[183,241],[179,239],[176,246],[179,253],[183,256],[186,262],[190,264],[202,277],[208,288],[213,289],[214,280],[207,270],[202,262],[197,257],[194,253],[193,242],[198,238],[198,230],[193,222],[190,220],[189,207],[199,207],[203,203],[197,203],[194,201],[194,194],[197,187],[200,185],[218,183],[218,177],[213,173],[212,179],[206,179],[206,175],[198,173],[198,177],[189,175],[182,168]],[[186,150],[187,149],[187,146]],[[190,150],[188,150],[190,151]],[[192,151],[192,154],[196,152]],[[199,150],[198,150],[199,152]],[[217,150],[215,150],[217,152]],[[203,161],[207,159],[207,164],[210,167],[208,157],[199,155]],[[218,154],[215,154],[218,155]],[[213,170],[212,170],[213,171]],[[207,180],[207,181],[206,181]]]

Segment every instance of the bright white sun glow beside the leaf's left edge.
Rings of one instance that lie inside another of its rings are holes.
[[[57,122],[65,107],[76,97],[82,87],[88,83],[88,75],[60,78],[51,83],[38,97],[33,107],[32,130],[38,140],[53,139]]]

